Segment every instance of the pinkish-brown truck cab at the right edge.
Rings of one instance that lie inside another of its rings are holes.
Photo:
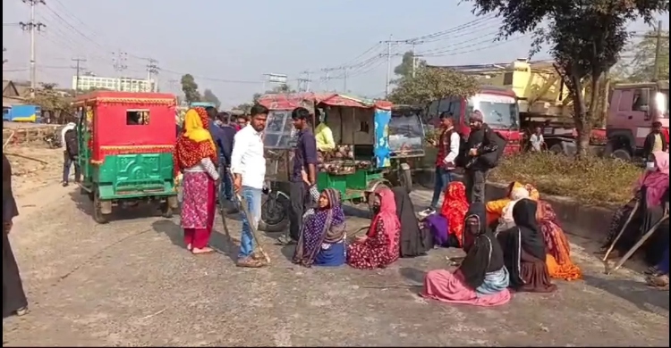
[[[662,124],[668,141],[668,81],[619,84],[611,91],[607,138],[612,151],[630,156],[641,150],[652,123]]]

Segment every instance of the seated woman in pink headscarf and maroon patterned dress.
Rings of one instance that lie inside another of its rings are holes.
[[[368,233],[347,248],[347,263],[355,269],[385,268],[400,254],[401,223],[396,216],[394,193],[385,187],[373,199],[373,223]]]

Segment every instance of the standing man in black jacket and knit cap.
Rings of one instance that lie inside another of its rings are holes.
[[[487,185],[488,170],[492,163],[486,161],[483,155],[495,153],[498,150],[498,137],[491,128],[484,123],[482,112],[471,113],[471,134],[466,144],[466,164],[463,179],[466,185],[466,195],[470,203],[485,202],[485,186]]]

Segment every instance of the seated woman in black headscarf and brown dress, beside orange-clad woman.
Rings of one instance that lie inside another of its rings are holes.
[[[546,265],[546,246],[536,223],[537,203],[522,199],[514,204],[514,228],[498,234],[504,251],[505,268],[510,272],[510,286],[516,291],[551,293],[556,286],[550,282]]]

